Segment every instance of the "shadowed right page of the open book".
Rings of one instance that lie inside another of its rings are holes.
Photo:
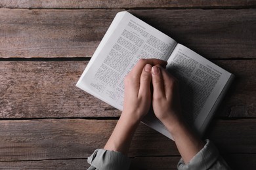
[[[212,116],[211,109],[232,74],[182,44],[173,50],[167,70],[179,80],[184,117],[202,133],[203,122]]]

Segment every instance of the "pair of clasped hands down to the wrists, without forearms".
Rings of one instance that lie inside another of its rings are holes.
[[[160,59],[139,60],[125,77],[122,114],[139,122],[152,105],[163,124],[174,125],[181,120],[178,81],[167,73],[166,65],[167,62]]]

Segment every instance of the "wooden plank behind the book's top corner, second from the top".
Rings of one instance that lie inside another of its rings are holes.
[[[0,9],[0,58],[91,57],[121,10]],[[255,58],[254,9],[129,11],[205,58]]]

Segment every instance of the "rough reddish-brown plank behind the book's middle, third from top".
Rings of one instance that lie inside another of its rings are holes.
[[[0,118],[118,117],[75,87],[88,61],[0,61]],[[256,61],[215,61],[236,75],[217,116],[256,117]]]

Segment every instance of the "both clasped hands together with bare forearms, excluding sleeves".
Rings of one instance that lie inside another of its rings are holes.
[[[152,106],[167,127],[185,163],[204,146],[181,116],[178,81],[165,70],[166,61],[140,59],[125,77],[123,112],[104,149],[127,154],[140,120]]]

